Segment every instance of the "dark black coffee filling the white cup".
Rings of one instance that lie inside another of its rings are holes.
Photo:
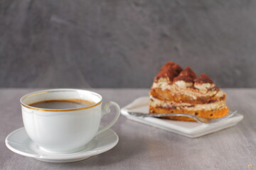
[[[92,106],[95,104],[93,101],[86,101],[82,99],[57,99],[49,101],[40,101],[36,103],[29,104],[35,108],[50,108],[50,109],[65,109],[65,108],[84,108],[87,106]]]

